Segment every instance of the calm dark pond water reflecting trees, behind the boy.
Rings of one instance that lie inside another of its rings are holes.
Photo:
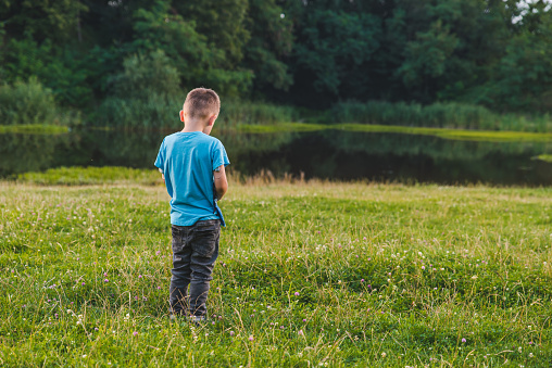
[[[59,166],[153,168],[170,132],[76,131],[60,136],[0,135],[0,177]],[[226,147],[231,170],[268,169],[306,178],[412,180],[418,182],[552,185],[552,164],[531,157],[551,143],[444,140],[398,134],[341,130],[286,134],[214,132]]]

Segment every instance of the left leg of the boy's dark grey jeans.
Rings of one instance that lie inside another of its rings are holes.
[[[186,314],[188,310],[188,285],[191,279],[191,246],[189,243],[189,227],[171,227],[173,233],[173,269],[171,287],[168,289],[171,312]]]

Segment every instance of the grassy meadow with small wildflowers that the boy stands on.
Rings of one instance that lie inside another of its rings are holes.
[[[231,182],[198,328],[156,174],[97,175],[0,182],[0,366],[552,364],[550,188]]]

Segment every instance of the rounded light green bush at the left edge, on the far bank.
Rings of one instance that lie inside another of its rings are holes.
[[[27,83],[0,86],[0,125],[78,124],[78,117],[72,119],[67,113],[61,113],[52,91],[35,77]]]

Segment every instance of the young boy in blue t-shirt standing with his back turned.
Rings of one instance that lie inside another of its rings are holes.
[[[224,226],[216,201],[228,189],[224,167],[229,161],[221,141],[209,136],[219,110],[215,91],[191,90],[180,111],[184,129],[163,139],[155,160],[171,195],[171,318],[189,313],[193,322],[206,317],[209,282]]]

